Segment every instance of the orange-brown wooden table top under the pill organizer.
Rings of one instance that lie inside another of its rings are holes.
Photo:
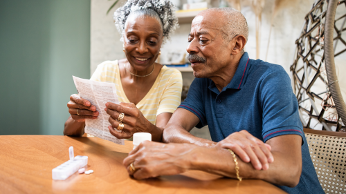
[[[97,137],[0,136],[0,193],[284,193],[262,180],[238,182],[195,171],[137,181],[122,166],[132,142],[120,146]],[[75,155],[89,157],[91,175],[52,180],[52,169]]]

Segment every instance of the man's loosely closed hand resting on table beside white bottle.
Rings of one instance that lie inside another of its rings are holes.
[[[194,144],[162,144],[145,141],[129,153],[122,164],[136,180],[160,175],[176,175],[190,168]],[[133,163],[133,164],[132,164]],[[136,171],[131,171],[133,165]]]

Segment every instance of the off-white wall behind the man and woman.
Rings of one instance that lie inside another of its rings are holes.
[[[291,6],[281,10],[273,20],[273,29],[271,33],[271,44],[266,61],[273,64],[280,64],[291,76],[289,67],[293,62],[293,53],[295,51],[295,40],[299,37],[304,17],[311,10],[314,0],[295,0]],[[181,0],[185,3],[186,0]],[[120,34],[113,23],[113,12],[125,3],[120,0],[119,3],[106,14],[113,1],[91,0],[91,74],[95,71],[98,64],[106,60],[116,60],[125,57],[122,52],[122,42],[119,41]],[[271,14],[273,12],[274,0],[266,0],[262,13],[262,35],[260,46],[260,59],[264,60],[266,56],[266,46],[268,43],[268,33],[271,26]],[[218,0],[211,0],[213,7],[219,5]],[[256,39],[255,39],[255,13],[249,5],[249,1],[242,1],[242,14],[246,18],[249,27],[248,42],[246,51],[251,59],[256,57]],[[161,50],[179,49],[185,50],[188,46],[188,33],[191,24],[180,24],[171,41],[167,41]],[[192,72],[183,72],[183,85],[190,86],[194,76]],[[191,133],[198,137],[210,139],[208,127],[202,129],[194,128]]]

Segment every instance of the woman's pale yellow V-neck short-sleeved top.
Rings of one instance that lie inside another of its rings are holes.
[[[91,76],[93,81],[104,81],[116,84],[116,93],[120,102],[129,103],[122,89],[118,60],[104,61],[98,65]],[[154,85],[145,97],[136,104],[145,118],[156,124],[156,116],[161,113],[173,113],[181,102],[183,79],[181,72],[174,68],[163,66],[156,77]]]

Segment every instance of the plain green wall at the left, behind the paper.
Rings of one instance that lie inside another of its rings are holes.
[[[0,135],[62,135],[90,77],[90,1],[0,1]]]

